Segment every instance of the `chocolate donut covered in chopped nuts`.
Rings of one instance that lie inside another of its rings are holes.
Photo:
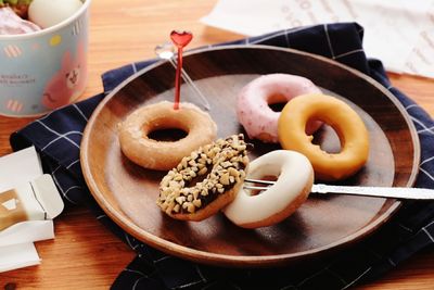
[[[218,139],[193,151],[168,172],[159,184],[156,203],[173,218],[205,219],[234,199],[247,165],[243,135]]]

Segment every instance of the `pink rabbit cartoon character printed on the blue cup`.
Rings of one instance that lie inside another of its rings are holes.
[[[76,99],[85,90],[86,66],[85,46],[80,41],[75,56],[68,50],[63,54],[61,68],[46,85],[42,104],[48,109],[56,109]]]

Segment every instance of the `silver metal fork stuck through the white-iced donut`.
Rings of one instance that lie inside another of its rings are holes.
[[[276,181],[244,179],[244,182],[259,184],[264,186],[248,186],[243,188],[251,190],[267,190]],[[395,199],[412,199],[412,200],[434,200],[434,190],[427,188],[411,187],[361,187],[361,186],[330,186],[330,185],[312,185],[312,193],[341,193],[378,198],[395,198]]]

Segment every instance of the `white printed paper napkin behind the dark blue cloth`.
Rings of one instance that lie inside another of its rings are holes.
[[[392,72],[434,77],[434,0],[219,0],[201,21],[246,36],[357,22],[368,56]]]

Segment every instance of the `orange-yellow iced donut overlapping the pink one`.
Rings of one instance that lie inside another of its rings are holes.
[[[312,144],[306,123],[320,119],[330,125],[341,141],[341,152],[328,153]],[[283,149],[306,155],[315,177],[339,180],[359,171],[368,160],[369,136],[363,121],[345,102],[331,96],[306,94],[288,102],[279,118],[279,141]]]

